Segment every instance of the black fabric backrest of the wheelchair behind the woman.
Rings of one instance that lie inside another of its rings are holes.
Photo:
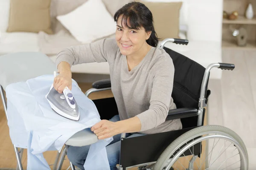
[[[175,67],[172,98],[177,108],[198,109],[205,68],[176,51],[166,47],[163,49],[170,55]],[[181,119],[183,128],[197,126],[197,117]]]

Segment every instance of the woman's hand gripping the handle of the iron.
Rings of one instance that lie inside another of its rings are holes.
[[[54,78],[53,87],[58,93],[62,93],[65,87],[72,89],[72,78],[69,74],[60,73]]]

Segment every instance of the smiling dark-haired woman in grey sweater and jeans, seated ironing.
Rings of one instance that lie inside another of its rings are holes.
[[[91,130],[99,139],[113,136],[106,147],[111,170],[119,164],[121,133],[127,137],[181,129],[180,119],[165,121],[168,111],[175,109],[172,99],[174,65],[169,54],[159,48],[151,11],[142,3],[132,2],[114,15],[116,38],[74,46],[57,55],[59,75],[54,88],[62,93],[70,89],[71,65],[108,62],[113,96],[119,116],[102,120]],[[104,29],[104,26],[102,26]],[[69,147],[70,161],[84,169],[90,146]]]

